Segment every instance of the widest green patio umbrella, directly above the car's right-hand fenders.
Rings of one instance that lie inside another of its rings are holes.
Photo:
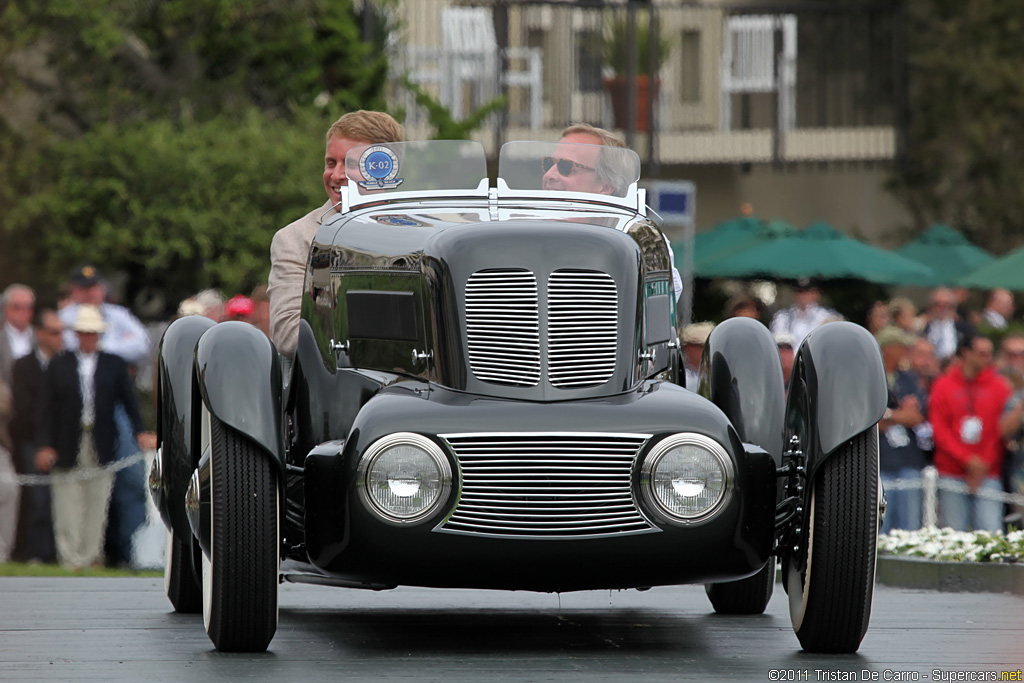
[[[822,222],[716,259],[700,274],[709,278],[856,279],[881,285],[905,285],[935,276],[926,265],[849,238]]]

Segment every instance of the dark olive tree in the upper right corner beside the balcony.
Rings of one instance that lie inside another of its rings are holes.
[[[918,227],[1024,243],[1024,3],[909,0],[908,127],[892,189]]]

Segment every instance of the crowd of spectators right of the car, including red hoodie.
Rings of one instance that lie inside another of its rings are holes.
[[[788,386],[796,351],[815,328],[843,319],[821,302],[818,283],[792,287],[793,304],[770,310],[749,293],[733,296],[725,318],[763,321],[779,350]],[[938,523],[957,530],[1020,528],[1024,508],[1005,493],[1024,495],[1024,319],[1014,296],[993,290],[972,309],[965,290],[936,288],[919,311],[906,297],[872,301],[854,321],[874,335],[890,390],[879,423],[887,512],[883,531],[923,523],[923,476],[938,472]],[[696,390],[699,347],[713,328],[682,332],[687,387]],[[688,351],[688,352],[687,352]]]

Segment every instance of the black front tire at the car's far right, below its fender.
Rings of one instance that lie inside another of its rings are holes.
[[[871,427],[821,464],[806,517],[806,548],[783,563],[790,616],[805,650],[860,647],[871,614],[878,514],[879,432]]]

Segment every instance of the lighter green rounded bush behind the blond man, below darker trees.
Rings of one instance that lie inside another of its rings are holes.
[[[24,177],[45,179],[4,217],[15,248],[0,253],[3,271],[45,290],[91,261],[169,304],[206,287],[247,292],[265,282],[273,232],[323,199],[324,129],[321,117],[252,109],[187,126],[103,124],[23,157],[35,164]]]

